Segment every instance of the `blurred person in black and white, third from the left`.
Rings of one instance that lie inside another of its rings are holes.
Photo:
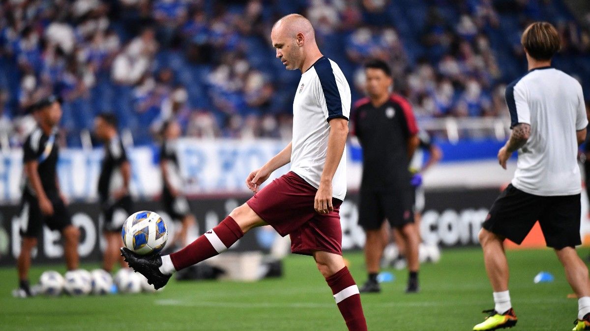
[[[162,149],[160,150],[160,170],[162,170],[162,204],[173,220],[181,221],[182,227],[176,233],[175,244],[186,245],[186,233],[195,224],[188,200],[183,194],[184,183],[178,167],[176,143],[181,135],[178,122],[169,120],[162,125]]]

